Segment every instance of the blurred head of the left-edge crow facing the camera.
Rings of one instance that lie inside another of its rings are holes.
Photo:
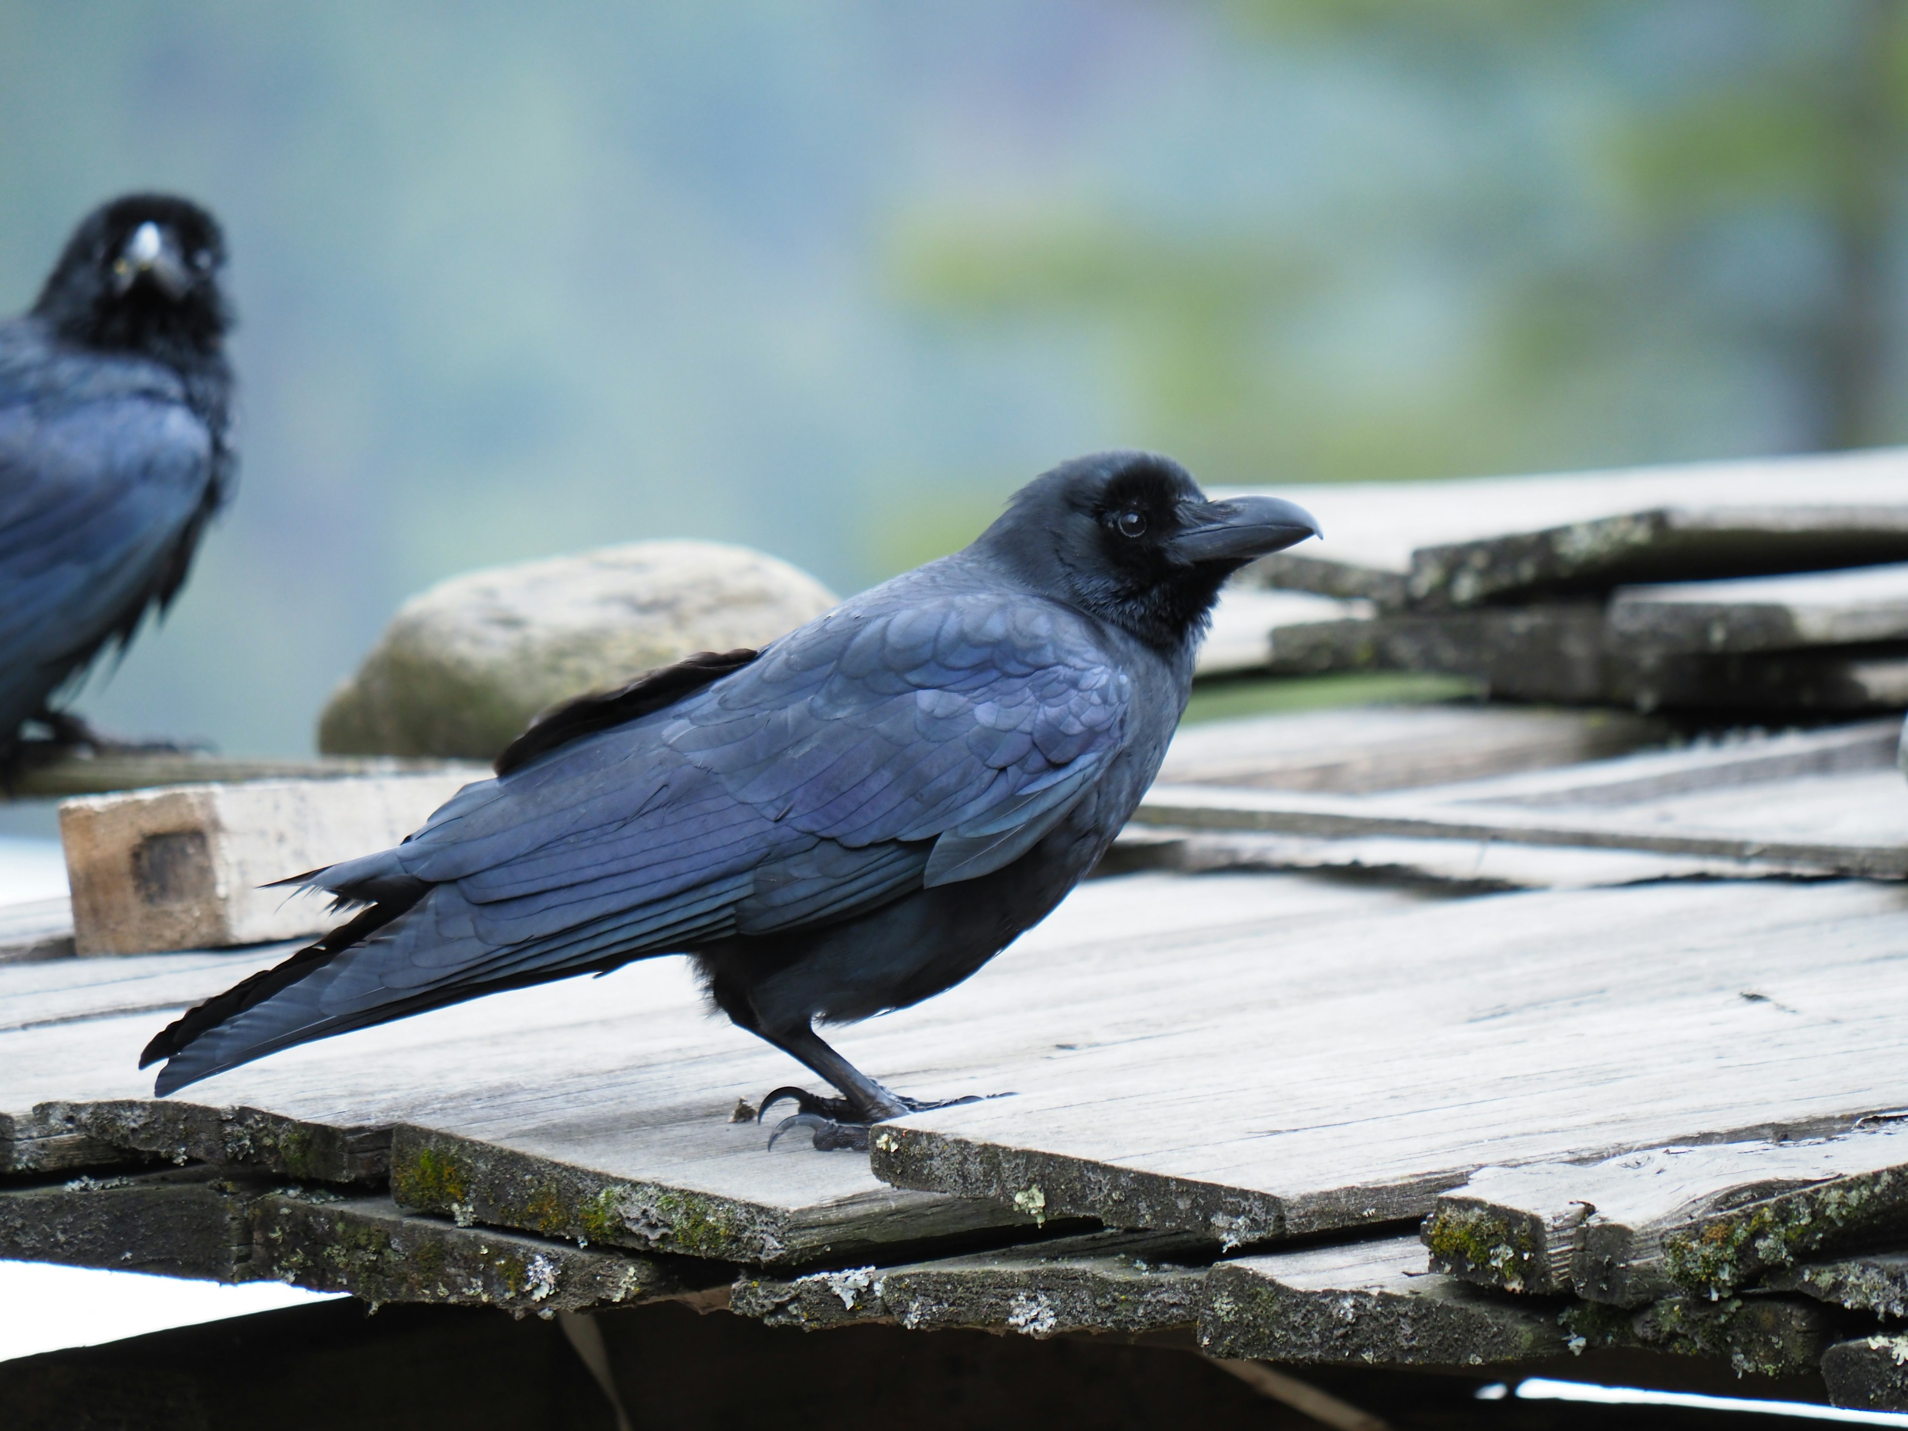
[[[231,326],[223,265],[225,235],[202,208],[126,195],[73,231],[32,311],[67,342],[187,366],[216,355]]]

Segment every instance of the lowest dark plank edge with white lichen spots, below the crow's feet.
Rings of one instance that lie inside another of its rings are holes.
[[[794,1278],[744,1273],[729,1311],[805,1332],[857,1322],[1030,1338],[1160,1332],[1198,1320],[1210,1259],[1212,1244],[1177,1234],[1091,1233],[899,1267]]]

